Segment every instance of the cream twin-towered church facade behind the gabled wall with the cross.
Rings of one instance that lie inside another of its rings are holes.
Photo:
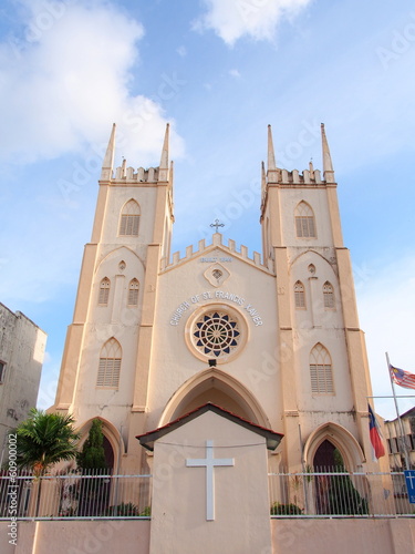
[[[173,164],[167,126],[158,167],[103,163],[53,410],[84,435],[103,421],[114,471],[146,471],[136,440],[212,403],[283,435],[270,471],[333,465],[373,471],[371,383],[333,165],[279,168],[268,129],[262,253],[236,242],[170,254]],[[218,228],[216,229],[218,230]]]

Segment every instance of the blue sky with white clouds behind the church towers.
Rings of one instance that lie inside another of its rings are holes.
[[[322,168],[324,122],[376,411],[385,352],[415,372],[415,6],[409,0],[3,0],[0,301],[49,336],[53,404],[103,153],[175,161],[173,252],[211,239],[261,252],[260,163]],[[398,394],[411,390],[397,388]],[[414,406],[400,399],[400,409]]]

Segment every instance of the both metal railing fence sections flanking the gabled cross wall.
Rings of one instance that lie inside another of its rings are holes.
[[[152,475],[0,474],[0,520],[148,519]],[[408,517],[402,472],[269,473],[271,517]]]

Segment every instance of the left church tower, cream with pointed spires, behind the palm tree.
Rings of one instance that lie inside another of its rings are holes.
[[[54,406],[73,413],[83,433],[93,418],[103,420],[114,468],[127,451],[131,419],[135,434],[144,429],[158,269],[174,222],[168,141],[167,125],[158,167],[123,160],[114,175],[113,125]]]

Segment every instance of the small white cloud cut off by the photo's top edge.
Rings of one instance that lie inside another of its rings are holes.
[[[194,23],[194,29],[212,29],[229,45],[243,35],[272,41],[281,19],[297,16],[310,2],[311,0],[205,0],[208,11]]]

